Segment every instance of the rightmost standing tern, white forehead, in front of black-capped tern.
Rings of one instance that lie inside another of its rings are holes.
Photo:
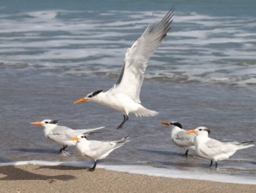
[[[196,153],[198,153],[203,158],[210,159],[210,166],[213,164],[214,160],[215,168],[217,168],[218,166],[218,160],[226,160],[230,156],[232,156],[235,151],[254,146],[252,144],[253,141],[233,141],[229,143],[222,143],[218,140],[211,139],[208,137],[208,134],[210,134],[210,130],[205,128],[204,126],[199,126],[194,130],[185,131],[185,133],[196,134],[194,138]]]

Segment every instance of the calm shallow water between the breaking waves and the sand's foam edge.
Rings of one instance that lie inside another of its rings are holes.
[[[219,162],[218,170],[209,169],[209,160],[170,143],[169,128],[164,120],[177,120],[184,128],[204,125],[211,137],[222,141],[255,140],[256,93],[247,88],[224,85],[174,84],[145,80],[141,100],[149,109],[160,112],[154,118],[130,120],[124,129],[116,130],[122,115],[114,110],[92,103],[72,104],[92,90],[104,90],[115,79],[58,75],[55,72],[24,70],[1,76],[1,162],[21,160],[78,161],[82,160],[73,147],[70,156],[58,155],[57,145],[48,141],[42,128],[30,125],[32,121],[58,119],[59,125],[73,129],[106,126],[103,133],[90,139],[115,140],[131,135],[130,143],[114,151],[102,161],[110,165],[142,165],[205,172],[205,174],[230,174],[255,176],[255,148],[238,151],[232,158]],[[9,77],[9,78],[8,78]],[[10,78],[12,77],[12,78]],[[100,114],[100,115],[99,115]]]

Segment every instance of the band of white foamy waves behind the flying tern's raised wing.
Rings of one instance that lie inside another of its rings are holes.
[[[2,65],[63,65],[67,73],[116,74],[127,48],[147,24],[158,22],[165,13],[157,11],[153,17],[151,11],[48,10],[0,14]],[[256,68],[255,23],[254,17],[175,12],[170,33],[149,62],[154,70],[147,70],[146,78],[255,84],[255,76],[250,73]]]

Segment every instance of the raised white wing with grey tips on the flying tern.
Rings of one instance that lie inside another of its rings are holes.
[[[127,50],[119,78],[111,88],[113,92],[129,95],[137,103],[140,103],[140,88],[147,61],[170,30],[173,14],[174,8],[172,7],[156,27],[149,24],[141,37]]]

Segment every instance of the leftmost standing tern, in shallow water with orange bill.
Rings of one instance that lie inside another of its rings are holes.
[[[65,151],[67,146],[76,145],[76,141],[71,140],[72,137],[81,134],[88,136],[90,134],[97,133],[95,130],[105,128],[105,126],[101,126],[100,128],[73,130],[66,126],[57,125],[58,120],[50,119],[33,122],[31,124],[44,126],[43,133],[45,134],[45,137],[63,145],[63,148],[60,149],[60,153]]]

